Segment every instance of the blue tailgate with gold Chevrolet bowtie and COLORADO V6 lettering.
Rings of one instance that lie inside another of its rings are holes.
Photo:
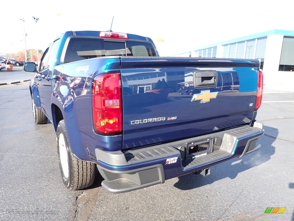
[[[258,67],[258,60],[121,57],[123,149],[249,124]]]

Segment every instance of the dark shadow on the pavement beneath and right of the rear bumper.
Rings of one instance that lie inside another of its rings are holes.
[[[264,126],[264,131],[272,137],[278,137],[278,129]],[[181,190],[195,189],[197,187],[212,184],[213,182],[230,178],[234,179],[240,172],[263,164],[270,160],[271,156],[275,153],[275,147],[272,146],[275,138],[262,136],[258,139],[256,145],[261,144],[258,151],[245,155],[242,158],[234,158],[224,163],[211,167],[211,175],[203,177],[201,175],[187,174],[178,178],[178,182],[174,187]]]

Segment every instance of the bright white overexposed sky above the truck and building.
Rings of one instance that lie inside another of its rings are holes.
[[[24,29],[26,48],[44,51],[66,31],[106,31],[113,17],[113,32],[150,37],[160,56],[273,29],[294,30],[294,1],[288,0],[16,0],[14,5],[18,1],[21,7],[1,11],[0,54],[24,49]]]

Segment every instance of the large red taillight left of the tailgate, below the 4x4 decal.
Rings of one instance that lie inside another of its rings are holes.
[[[94,78],[92,85],[93,128],[96,133],[117,135],[122,131],[121,80],[119,73]]]

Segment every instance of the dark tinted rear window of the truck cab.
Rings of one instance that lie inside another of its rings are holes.
[[[104,40],[73,37],[69,40],[64,63],[103,56],[157,56],[150,42],[134,40]]]

